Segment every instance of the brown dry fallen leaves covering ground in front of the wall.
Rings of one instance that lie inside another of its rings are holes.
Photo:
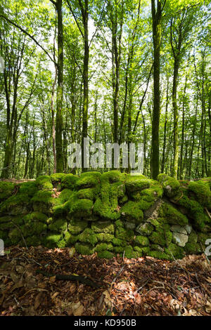
[[[82,275],[97,287],[57,275]],[[208,316],[210,260],[100,259],[69,248],[15,246],[0,257],[0,315]]]

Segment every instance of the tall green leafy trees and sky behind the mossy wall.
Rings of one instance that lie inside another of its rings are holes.
[[[87,136],[143,143],[146,176],[211,176],[209,20],[209,1],[1,1],[1,178],[69,173]]]

